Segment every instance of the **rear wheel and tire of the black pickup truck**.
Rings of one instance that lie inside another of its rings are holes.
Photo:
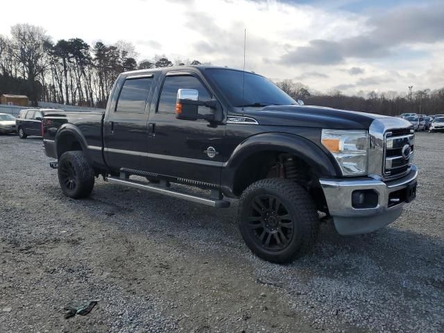
[[[83,151],[67,151],[58,160],[58,181],[63,194],[86,198],[94,187],[94,169]]]

